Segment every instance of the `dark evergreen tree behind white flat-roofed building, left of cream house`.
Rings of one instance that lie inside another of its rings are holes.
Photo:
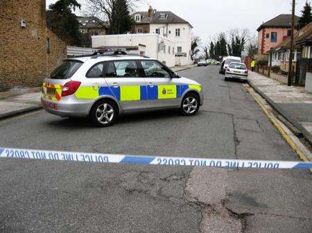
[[[131,31],[134,21],[130,16],[126,0],[116,0],[112,3],[112,15],[107,27],[107,34],[124,34]]]

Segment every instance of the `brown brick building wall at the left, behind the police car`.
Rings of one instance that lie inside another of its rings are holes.
[[[66,58],[66,44],[46,27],[45,6],[45,0],[0,1],[0,92],[39,87]]]

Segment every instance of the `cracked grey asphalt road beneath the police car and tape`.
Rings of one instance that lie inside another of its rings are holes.
[[[134,155],[297,160],[218,67],[196,116],[123,116],[110,128],[44,111],[0,121],[0,146]],[[311,232],[309,171],[0,160],[0,232]]]

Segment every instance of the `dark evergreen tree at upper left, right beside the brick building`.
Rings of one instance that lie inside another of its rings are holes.
[[[72,13],[80,4],[76,0],[58,0],[46,12],[46,24],[68,45],[80,45],[79,22]]]

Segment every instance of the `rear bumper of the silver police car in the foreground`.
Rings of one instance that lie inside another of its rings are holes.
[[[89,115],[90,103],[73,103],[71,101],[51,101],[41,97],[42,107],[46,112],[64,117],[85,117]]]

